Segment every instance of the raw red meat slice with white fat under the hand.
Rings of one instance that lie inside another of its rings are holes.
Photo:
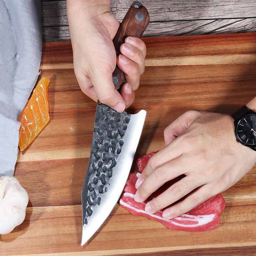
[[[223,209],[225,208],[225,200],[218,194],[212,198],[206,200],[204,203],[196,206],[191,211],[186,214],[182,214],[171,220],[166,220],[162,217],[163,210],[156,212],[154,214],[149,214],[145,212],[145,205],[162,193],[167,187],[170,187],[176,181],[171,181],[166,183],[163,187],[159,188],[155,193],[153,193],[145,202],[137,203],[134,201],[134,195],[137,191],[135,188],[135,183],[140,172],[143,171],[148,163],[148,160],[153,156],[155,152],[143,156],[137,160],[137,165],[139,172],[133,172],[130,174],[129,179],[126,182],[124,193],[120,198],[120,205],[127,209],[129,212],[135,215],[141,215],[147,217],[151,220],[156,220],[164,224],[167,228],[172,230],[183,230],[189,232],[200,232],[212,230],[220,224],[219,216]],[[181,177],[180,177],[181,178]],[[179,178],[179,179],[180,179]]]

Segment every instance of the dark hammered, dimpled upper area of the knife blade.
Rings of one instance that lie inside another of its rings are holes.
[[[101,195],[111,186],[113,168],[124,145],[123,137],[130,118],[130,114],[118,113],[104,104],[96,108],[90,162],[82,190],[84,196],[87,192],[83,224],[88,223],[94,207],[100,205]]]

